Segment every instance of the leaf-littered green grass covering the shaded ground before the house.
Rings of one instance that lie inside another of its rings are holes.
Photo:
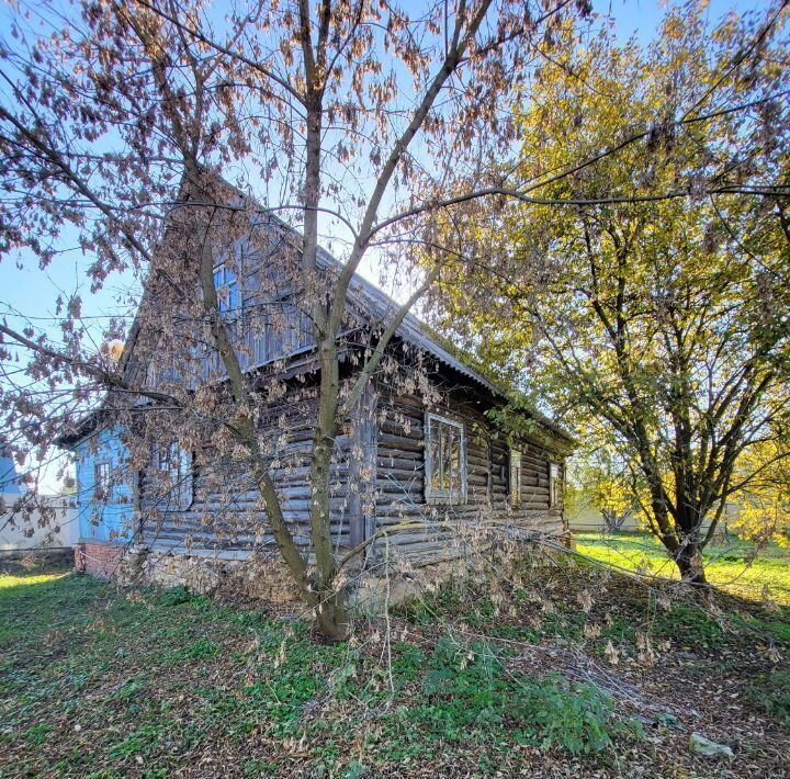
[[[632,567],[650,555],[663,562],[636,534],[584,538],[582,547]],[[714,551],[714,565],[741,569],[749,554]],[[790,726],[790,670],[777,659],[790,650],[787,607],[764,608],[752,592],[716,596],[711,608],[707,597],[647,588],[584,561],[544,563],[512,561],[501,579],[449,583],[392,611],[391,643],[382,620],[346,644],[324,643],[307,622],[260,603],[183,587],[3,575],[0,776],[167,777],[195,766],[206,775],[529,776],[546,759],[578,775],[633,775],[655,730],[643,733],[616,688],[579,676],[578,653],[608,668],[599,680],[651,675],[645,695],[670,668],[686,693],[680,708],[674,692],[658,707],[668,707],[667,722],[689,708],[707,723],[723,718],[727,731],[754,716]],[[658,653],[648,665],[645,636]],[[731,716],[720,686],[747,711]],[[755,749],[790,749],[777,733],[776,747],[758,744]],[[678,765],[674,774],[653,766],[657,775],[707,775],[685,763],[685,747],[662,748]]]

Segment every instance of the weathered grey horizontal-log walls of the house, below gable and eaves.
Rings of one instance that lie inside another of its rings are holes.
[[[429,564],[469,556],[493,530],[505,534],[563,530],[561,506],[549,506],[550,463],[562,456],[535,441],[519,444],[521,495],[508,495],[509,453],[473,392],[442,393],[428,407],[419,394],[374,386],[359,413],[341,425],[331,468],[331,531],[338,550],[390,529],[368,551],[385,558]],[[309,455],[316,405],[286,396],[263,409],[259,436],[276,452],[272,475],[297,543],[309,542]],[[430,411],[463,424],[466,497],[428,503],[425,496],[425,419]],[[266,445],[266,444],[264,444]],[[561,475],[562,467],[561,467]],[[181,510],[176,490],[153,466],[140,474],[142,538],[180,550],[249,551],[272,547],[266,510],[244,461],[195,456],[191,501]],[[399,527],[408,526],[408,527]]]

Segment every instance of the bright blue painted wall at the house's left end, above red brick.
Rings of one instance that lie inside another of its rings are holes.
[[[126,466],[128,451],[117,430],[100,430],[74,448],[77,455],[77,511],[84,541],[132,539],[135,532],[134,488]],[[110,464],[113,486],[106,498],[97,497],[95,466]]]

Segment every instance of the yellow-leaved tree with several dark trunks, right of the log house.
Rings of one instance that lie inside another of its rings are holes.
[[[790,408],[787,15],[776,4],[713,29],[691,3],[648,47],[565,30],[503,171],[520,203],[433,298],[438,325],[490,371],[518,363],[583,440],[600,431],[693,584],[727,501],[746,496],[744,522],[757,511],[767,471],[747,460],[772,451]],[[606,482],[599,497],[619,504]]]

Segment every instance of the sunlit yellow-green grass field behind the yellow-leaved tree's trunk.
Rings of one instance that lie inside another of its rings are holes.
[[[577,550],[606,563],[658,576],[677,577],[677,567],[661,543],[650,533],[575,533]],[[767,595],[777,603],[790,605],[790,549],[755,544],[734,539],[706,549],[708,580],[751,600]]]

